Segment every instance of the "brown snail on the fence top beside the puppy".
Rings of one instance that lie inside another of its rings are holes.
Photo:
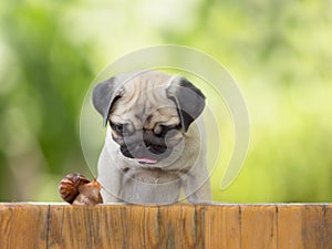
[[[72,205],[93,206],[102,204],[101,184],[90,181],[85,176],[72,173],[62,178],[59,185],[61,198]]]

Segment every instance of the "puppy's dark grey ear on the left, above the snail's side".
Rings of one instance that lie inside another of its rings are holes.
[[[106,126],[108,113],[114,101],[123,95],[123,87],[116,76],[98,83],[92,94],[92,102],[95,110],[103,116],[103,124]]]

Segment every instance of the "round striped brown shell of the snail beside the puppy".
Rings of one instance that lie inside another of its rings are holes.
[[[59,185],[59,193],[63,200],[72,204],[80,194],[80,186],[89,184],[85,176],[72,173],[62,178]]]

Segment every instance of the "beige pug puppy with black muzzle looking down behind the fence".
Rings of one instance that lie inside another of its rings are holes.
[[[97,165],[104,203],[172,204],[180,189],[190,203],[211,200],[205,96],[187,79],[121,74],[95,86],[93,105],[110,124]]]

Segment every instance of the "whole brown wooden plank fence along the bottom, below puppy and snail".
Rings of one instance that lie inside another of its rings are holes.
[[[332,249],[332,205],[0,204],[0,248]]]

